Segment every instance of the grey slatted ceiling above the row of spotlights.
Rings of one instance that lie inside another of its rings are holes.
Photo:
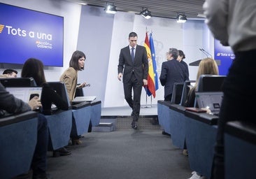
[[[69,0],[72,1],[72,0]],[[106,4],[114,4],[118,11],[139,14],[143,8],[150,10],[152,17],[176,18],[178,13],[184,13],[188,19],[200,19],[203,15],[204,0],[73,0],[83,2],[90,6],[106,7]]]

